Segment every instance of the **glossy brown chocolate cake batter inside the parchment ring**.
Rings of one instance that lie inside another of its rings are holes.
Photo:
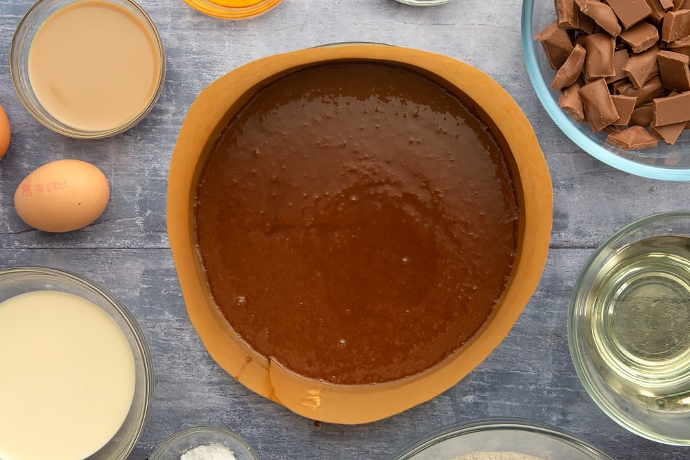
[[[215,301],[254,350],[380,383],[449,357],[511,272],[517,202],[491,133],[410,70],[348,62],[262,89],[199,180]]]

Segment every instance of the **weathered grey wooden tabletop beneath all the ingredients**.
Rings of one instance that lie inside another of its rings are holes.
[[[519,0],[455,0],[415,8],[394,0],[284,0],[255,19],[213,19],[182,0],[141,0],[166,50],[165,88],[152,112],[111,139],[78,141],[43,128],[12,89],[12,33],[29,0],[0,0],[0,103],[12,123],[0,160],[0,268],[63,268],[103,283],[139,320],[155,361],[155,396],[132,459],[199,424],[235,430],[262,459],[385,459],[451,423],[506,416],[559,426],[617,459],[686,459],[690,448],[635,436],[589,399],[573,370],[566,309],[584,261],[611,232],[653,212],[687,208],[690,183],[653,181],[589,157],[538,103],[520,48]],[[197,94],[253,59],[339,41],[376,41],[446,54],[484,70],[535,127],[554,189],[551,251],[540,286],[504,342],[456,386],[406,412],[363,426],[317,424],[258,397],[208,357],[184,309],[166,236],[166,178],[177,130]],[[69,234],[27,228],[14,189],[51,160],[101,168],[112,198],[94,225]]]

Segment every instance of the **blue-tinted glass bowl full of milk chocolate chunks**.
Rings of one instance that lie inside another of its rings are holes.
[[[690,1],[525,0],[522,49],[546,112],[582,150],[690,180]]]

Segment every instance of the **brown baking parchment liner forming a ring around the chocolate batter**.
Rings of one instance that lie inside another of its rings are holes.
[[[517,256],[508,285],[484,326],[437,366],[400,381],[339,386],[307,379],[254,352],[210,296],[195,241],[199,174],[215,139],[237,110],[284,74],[317,63],[366,60],[411,68],[457,95],[502,146],[520,206]],[[549,248],[552,189],[534,131],[510,95],[480,70],[439,54],[377,44],[342,44],[277,54],[250,62],[204,89],[181,126],[170,161],[167,225],[187,312],[219,366],[257,394],[309,419],[367,423],[428,401],[460,381],[506,337],[540,280]]]

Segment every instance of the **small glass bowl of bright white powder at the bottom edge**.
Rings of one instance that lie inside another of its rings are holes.
[[[195,426],[173,434],[149,460],[259,460],[237,434],[215,426]]]

